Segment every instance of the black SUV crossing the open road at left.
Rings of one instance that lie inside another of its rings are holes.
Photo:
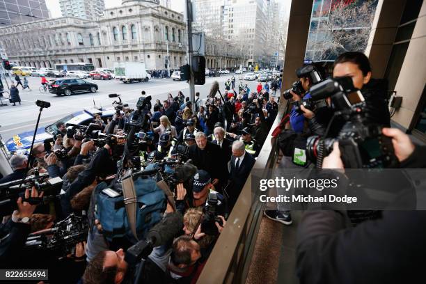
[[[49,84],[49,92],[56,95],[72,95],[75,93],[95,93],[97,91],[97,84],[84,81],[82,79],[58,79],[51,80]]]

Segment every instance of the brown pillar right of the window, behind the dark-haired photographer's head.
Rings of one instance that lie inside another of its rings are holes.
[[[400,24],[406,0],[379,0],[365,55],[372,65],[372,77],[383,78],[393,41]]]

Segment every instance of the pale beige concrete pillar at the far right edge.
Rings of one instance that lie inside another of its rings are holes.
[[[407,3],[408,4],[408,3]],[[392,120],[407,128],[411,132],[420,116],[426,100],[426,2],[422,8],[414,27],[413,35],[402,63],[400,75],[395,90],[402,96],[401,108],[395,113]],[[424,94],[425,93],[425,94]],[[422,97],[423,96],[423,97]]]

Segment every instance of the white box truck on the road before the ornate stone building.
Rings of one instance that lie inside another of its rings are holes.
[[[124,83],[147,82],[151,79],[143,62],[116,62],[114,63],[114,74],[116,79]]]

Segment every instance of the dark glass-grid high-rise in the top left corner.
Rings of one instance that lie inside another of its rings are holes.
[[[10,26],[49,18],[45,0],[0,1],[0,26]]]

